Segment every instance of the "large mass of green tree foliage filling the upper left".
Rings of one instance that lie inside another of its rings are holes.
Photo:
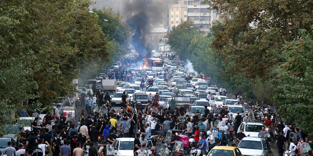
[[[45,107],[67,96],[81,69],[108,61],[89,0],[2,0],[0,5],[0,107],[9,108],[0,110],[1,124],[14,121],[23,107]]]

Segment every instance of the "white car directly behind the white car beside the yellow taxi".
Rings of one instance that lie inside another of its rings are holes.
[[[246,136],[258,137],[259,132],[262,130],[262,127],[265,127],[265,129],[267,129],[267,127],[262,122],[257,122],[257,121],[256,122],[246,122],[246,121],[243,121],[240,124],[240,126],[237,130],[237,133],[239,133],[240,129],[243,129],[243,133]]]

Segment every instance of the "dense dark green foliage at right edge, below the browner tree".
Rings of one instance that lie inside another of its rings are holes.
[[[313,31],[301,30],[300,39],[287,42],[282,52],[286,60],[275,69],[274,98],[285,119],[303,131],[313,132]]]

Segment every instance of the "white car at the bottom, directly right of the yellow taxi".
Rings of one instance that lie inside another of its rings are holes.
[[[238,144],[244,156],[268,156],[268,147],[263,138],[244,137]]]

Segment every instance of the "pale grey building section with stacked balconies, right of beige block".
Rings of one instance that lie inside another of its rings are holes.
[[[208,3],[203,4],[204,0],[187,0],[187,16],[192,20],[201,31],[209,32],[212,23],[219,20],[217,11],[208,9]]]

